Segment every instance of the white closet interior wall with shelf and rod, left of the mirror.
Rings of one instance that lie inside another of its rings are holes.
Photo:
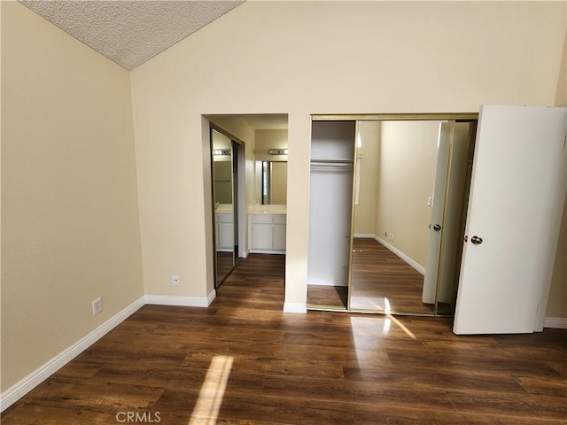
[[[307,282],[348,285],[355,121],[314,121]]]

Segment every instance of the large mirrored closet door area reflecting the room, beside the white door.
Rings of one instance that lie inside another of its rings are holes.
[[[469,130],[359,122],[349,309],[452,313]]]

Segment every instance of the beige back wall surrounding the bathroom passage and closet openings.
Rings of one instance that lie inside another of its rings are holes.
[[[183,270],[184,294],[205,294],[201,114],[289,114],[286,303],[305,305],[309,115],[553,104],[564,16],[561,2],[246,2],[136,68],[143,246],[163,251],[144,255],[146,290],[172,294],[158,281]]]

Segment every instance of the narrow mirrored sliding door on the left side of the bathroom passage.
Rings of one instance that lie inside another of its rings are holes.
[[[232,141],[211,129],[215,225],[215,285],[230,273],[234,258],[233,155]]]

